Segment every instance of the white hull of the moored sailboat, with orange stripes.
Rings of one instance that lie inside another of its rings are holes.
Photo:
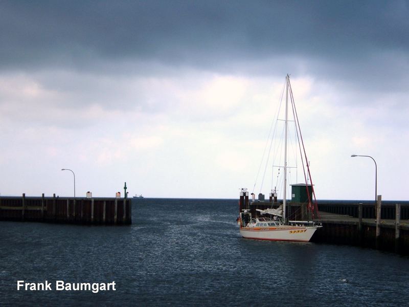
[[[309,242],[315,230],[322,226],[241,227],[244,238],[272,241]]]

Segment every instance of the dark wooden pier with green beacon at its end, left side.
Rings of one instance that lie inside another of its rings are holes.
[[[94,225],[132,223],[131,200],[124,198],[66,198],[0,196],[0,221]]]

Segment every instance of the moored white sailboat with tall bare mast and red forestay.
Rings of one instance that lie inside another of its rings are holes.
[[[284,169],[282,176],[283,201],[282,204],[279,204],[279,202],[277,201],[277,190],[271,189],[269,202],[264,201],[264,195],[261,193],[259,194],[258,201],[255,200],[255,194],[252,193],[251,194],[252,200],[251,202],[249,202],[248,191],[246,188],[242,188],[240,191],[239,217],[237,218],[237,223],[240,227],[240,234],[244,238],[309,242],[314,232],[322,227],[322,225],[316,224],[315,222],[310,221],[309,219],[304,221],[303,220],[290,221],[286,216],[287,213],[286,208],[287,207],[291,208],[291,206],[289,206],[291,205],[291,203],[287,204],[287,185],[288,185],[287,172],[289,168],[291,168],[291,166],[287,165],[289,96],[291,100],[291,110],[294,117],[294,120],[291,122],[294,122],[294,126],[296,127],[295,129],[296,139],[299,141],[300,144],[300,156],[302,156],[301,161],[303,165],[305,179],[305,184],[294,184],[292,185],[292,188],[293,191],[294,190],[302,191],[302,193],[305,195],[304,196],[305,200],[298,200],[297,203],[299,205],[298,209],[301,209],[298,211],[304,213],[301,215],[311,217],[311,220],[313,220],[314,213],[318,214],[315,192],[312,185],[311,174],[309,170],[309,163],[305,153],[304,143],[301,136],[301,130],[298,124],[298,115],[294,105],[294,99],[292,96],[290,78],[289,75],[287,74],[285,80],[284,163],[283,165],[281,165],[281,167]],[[277,120],[279,120],[278,117]],[[305,171],[304,167],[304,159],[307,172]],[[295,194],[292,194],[292,196],[295,196]],[[312,199],[315,200],[315,203],[313,203]]]

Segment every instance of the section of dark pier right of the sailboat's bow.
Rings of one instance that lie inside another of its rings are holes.
[[[385,202],[319,203],[323,228],[312,242],[347,244],[409,254],[409,204]],[[395,203],[395,204],[394,204]]]

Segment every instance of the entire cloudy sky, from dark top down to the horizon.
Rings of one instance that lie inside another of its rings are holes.
[[[2,1],[0,194],[236,198],[286,74],[318,199],[407,200],[407,1]],[[255,191],[259,192],[259,190]],[[268,193],[268,185],[262,190]]]

